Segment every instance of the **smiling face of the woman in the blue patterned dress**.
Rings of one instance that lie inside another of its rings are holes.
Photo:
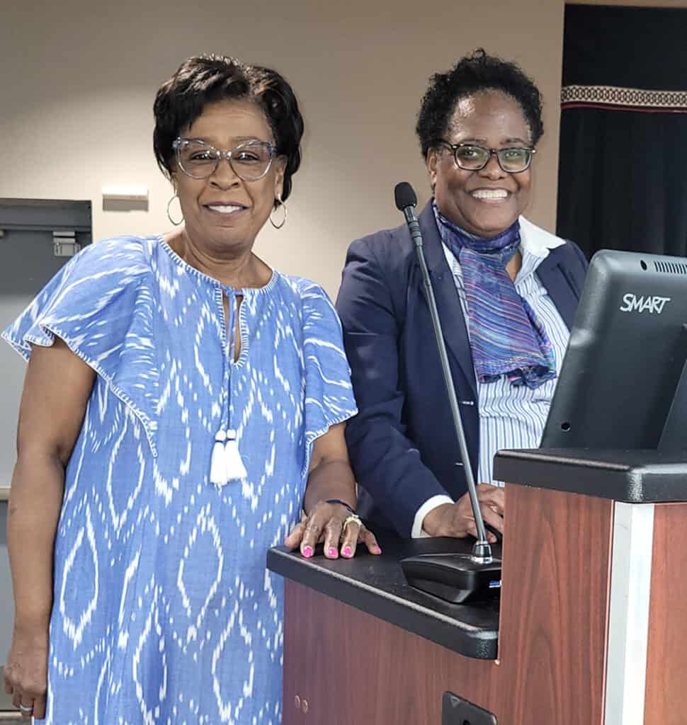
[[[274,143],[265,115],[250,101],[207,104],[181,136],[200,139],[222,151],[244,141]],[[274,199],[281,196],[284,165],[283,157],[275,157],[268,173],[258,181],[239,178],[226,159],[204,179],[191,178],[175,167],[172,178],[189,239],[218,254],[250,249],[269,218]]]

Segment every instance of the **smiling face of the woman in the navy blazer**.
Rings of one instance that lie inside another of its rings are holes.
[[[488,149],[532,146],[522,108],[501,91],[482,91],[458,100],[444,139]],[[429,149],[427,167],[440,212],[477,236],[506,231],[530,201],[531,167],[507,173],[495,154],[483,169],[466,171],[456,165],[450,149]]]

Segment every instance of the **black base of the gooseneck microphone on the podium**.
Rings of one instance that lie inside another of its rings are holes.
[[[419,554],[400,562],[411,587],[452,604],[495,599],[501,594],[501,559],[480,563],[470,554]]]

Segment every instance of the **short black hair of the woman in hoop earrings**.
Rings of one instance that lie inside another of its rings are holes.
[[[276,70],[247,65],[229,56],[193,56],[160,86],[153,105],[152,138],[157,165],[170,178],[174,139],[194,123],[206,104],[226,100],[252,101],[265,114],[276,152],[287,159],[281,196],[285,201],[291,194],[291,177],[300,166],[303,116],[298,101],[287,80]]]

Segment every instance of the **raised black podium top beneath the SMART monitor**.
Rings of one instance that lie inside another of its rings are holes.
[[[494,459],[494,478],[628,503],[687,501],[687,452],[502,450]]]

